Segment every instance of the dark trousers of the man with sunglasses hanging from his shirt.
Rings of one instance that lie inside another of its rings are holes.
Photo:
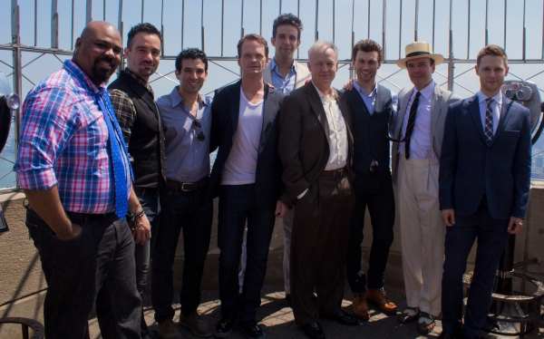
[[[161,323],[174,317],[172,266],[180,232],[183,230],[184,263],[181,277],[181,313],[191,315],[200,304],[200,282],[208,255],[213,202],[205,189],[184,192],[160,191],[160,231],[153,249],[151,300],[155,320]]]

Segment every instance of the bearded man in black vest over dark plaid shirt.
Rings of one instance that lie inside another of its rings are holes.
[[[164,135],[160,112],[154,101],[150,76],[160,62],[159,30],[152,24],[137,24],[129,31],[124,49],[128,67],[108,86],[113,109],[129,149],[134,171],[134,192],[151,223],[151,239],[157,232],[159,218],[159,189],[164,185]],[[129,216],[130,218],[130,216]],[[136,243],[139,239],[135,239]],[[143,295],[147,286],[151,242],[136,245],[136,284]],[[148,337],[148,329],[141,317],[141,336]]]

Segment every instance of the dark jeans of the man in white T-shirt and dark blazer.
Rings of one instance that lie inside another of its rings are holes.
[[[276,206],[255,204],[255,185],[222,185],[219,191],[219,296],[221,312],[255,320],[260,291],[267,274],[268,247],[274,230]],[[238,298],[238,265],[248,221],[248,261]]]

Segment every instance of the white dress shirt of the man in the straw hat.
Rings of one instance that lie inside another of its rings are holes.
[[[432,107],[432,94],[434,93],[434,86],[436,83],[431,82],[427,87],[423,88],[419,98],[419,104],[417,105],[417,113],[415,114],[415,124],[413,126],[412,137],[410,137],[410,158],[411,159],[434,159],[436,155],[432,150],[432,136],[431,136],[431,107]],[[401,138],[404,138],[406,133],[406,126],[408,125],[408,118],[410,116],[410,108],[412,107],[413,99],[418,91],[414,88],[410,102],[406,105],[406,111],[404,112],[403,120],[403,134]],[[404,143],[399,144],[399,153],[404,154]]]

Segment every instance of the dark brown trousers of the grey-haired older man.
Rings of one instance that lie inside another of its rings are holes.
[[[296,324],[316,322],[318,312],[332,315],[340,309],[354,206],[355,192],[347,173],[319,177],[296,201],[291,235],[291,299]]]

